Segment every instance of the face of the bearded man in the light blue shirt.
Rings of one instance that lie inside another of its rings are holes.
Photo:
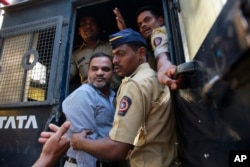
[[[88,69],[88,82],[98,89],[109,88],[113,75],[112,62],[107,57],[95,57]]]

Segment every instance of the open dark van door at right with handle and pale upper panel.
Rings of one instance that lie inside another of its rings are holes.
[[[173,92],[184,166],[246,165],[235,157],[250,157],[249,5],[166,1],[174,61],[188,62],[177,68],[185,81]]]

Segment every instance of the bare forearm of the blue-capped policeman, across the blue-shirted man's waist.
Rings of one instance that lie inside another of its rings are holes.
[[[86,138],[87,131],[75,133],[72,136],[72,147],[74,150],[85,151],[98,159],[106,161],[125,160],[133,145],[102,138],[89,140]]]

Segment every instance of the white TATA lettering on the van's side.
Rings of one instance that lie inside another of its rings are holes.
[[[37,121],[35,115],[22,116],[1,116],[0,129],[37,129]]]

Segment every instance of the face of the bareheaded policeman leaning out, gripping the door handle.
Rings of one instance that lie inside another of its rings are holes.
[[[140,33],[145,39],[148,39],[152,34],[153,29],[164,24],[162,17],[156,18],[150,11],[144,11],[137,17],[137,25]]]

